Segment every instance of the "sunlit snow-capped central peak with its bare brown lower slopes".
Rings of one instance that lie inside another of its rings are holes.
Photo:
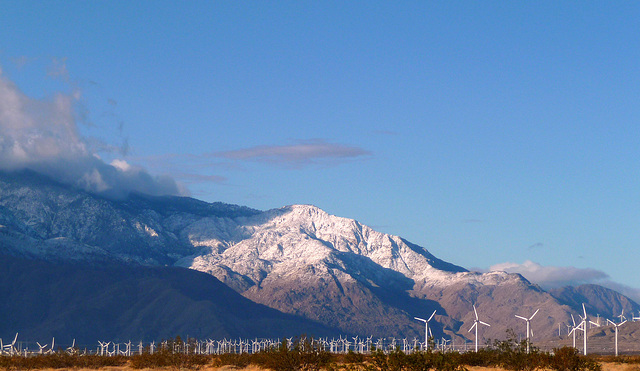
[[[472,323],[472,304],[498,322],[488,331],[496,337],[517,324],[516,309],[535,302],[547,303],[556,319],[568,318],[559,303],[520,275],[469,272],[400,237],[311,205],[239,219],[204,218],[184,233],[202,249],[177,265],[212,274],[256,302],[349,332],[417,336],[413,316],[437,309],[441,324],[434,329],[453,335]]]

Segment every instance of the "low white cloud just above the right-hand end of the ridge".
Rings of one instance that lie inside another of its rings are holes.
[[[500,263],[489,267],[490,271],[504,271],[519,273],[530,282],[544,288],[554,288],[585,283],[599,283],[609,278],[609,275],[592,268],[542,266],[530,260],[522,264]]]

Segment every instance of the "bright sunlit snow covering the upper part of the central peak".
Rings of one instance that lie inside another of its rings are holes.
[[[466,271],[397,236],[310,205],[287,206],[236,220],[204,218],[183,233],[204,251],[180,260],[178,265],[216,276],[231,270],[253,284],[268,274],[284,275],[291,266],[335,264],[345,255],[365,257],[412,279],[443,280],[451,273]]]

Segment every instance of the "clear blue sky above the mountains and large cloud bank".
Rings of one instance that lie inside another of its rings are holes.
[[[70,97],[83,154],[640,299],[636,2],[0,6],[5,84]]]

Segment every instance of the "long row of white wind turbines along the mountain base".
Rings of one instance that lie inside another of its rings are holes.
[[[11,341],[3,341],[3,339],[0,338],[0,356],[34,357],[39,355],[64,353],[79,356],[99,355],[104,357],[132,357],[134,355],[154,354],[156,352],[167,351],[167,349],[171,349],[172,352],[182,352],[184,354],[197,355],[257,354],[273,349],[279,349],[282,347],[282,344],[286,344],[287,349],[292,351],[296,347],[296,342],[298,345],[301,343],[308,343],[309,345],[306,346],[311,346],[314,349],[336,355],[347,353],[371,355],[375,352],[380,352],[381,354],[390,354],[394,351],[402,351],[405,354],[413,354],[416,352],[477,353],[479,351],[490,351],[491,349],[496,349],[495,347],[497,343],[505,341],[505,339],[493,339],[493,344],[491,342],[479,341],[479,339],[481,338],[481,334],[478,332],[480,325],[490,326],[490,324],[480,319],[481,316],[478,314],[478,310],[475,308],[475,305],[473,305],[473,315],[475,320],[471,328],[468,329],[468,332],[474,330],[475,336],[473,341],[471,341],[473,346],[469,346],[468,343],[470,341],[467,340],[458,342],[456,344],[454,342],[454,338],[446,339],[443,337],[442,339],[434,339],[428,329],[428,324],[434,318],[436,312],[437,311],[434,311],[426,320],[415,317],[416,320],[425,324],[425,331],[428,336],[425,337],[424,341],[417,337],[410,339],[396,337],[375,338],[373,336],[339,336],[336,338],[307,338],[306,336],[300,336],[296,338],[224,338],[204,340],[186,336],[184,340],[181,340],[180,337],[177,337],[176,339],[157,341],[154,340],[146,343],[144,341],[116,341],[105,339],[102,341],[98,341],[97,344],[77,344],[76,339],[73,339],[71,344],[60,344],[59,342],[56,343],[55,338],[52,338],[50,342],[41,343],[40,340],[33,341],[21,339],[19,338],[19,333],[16,333],[11,338]],[[543,312],[540,312],[540,309],[537,309],[532,315],[528,317],[517,317],[522,319],[527,323],[527,325],[529,325],[538,313],[544,315]],[[573,325],[570,331],[567,331],[566,334],[559,336],[558,339],[553,339],[551,341],[548,339],[541,339],[538,342],[533,341],[531,337],[527,336],[526,339],[521,342],[521,345],[518,346],[522,346],[522,351],[526,354],[531,353],[532,349],[536,349],[536,352],[547,351],[553,353],[555,350],[559,349],[562,346],[569,346],[567,342],[570,341],[570,338],[573,336],[574,345],[572,346],[572,348],[576,349],[576,352],[580,351],[583,355],[612,354],[616,357],[620,356],[621,353],[628,356],[640,355],[640,338],[634,337],[637,336],[637,334],[640,334],[640,321],[634,319],[623,319],[622,322],[616,322],[613,319],[607,318],[606,322],[609,324],[609,326],[599,326],[589,329],[587,326],[588,323],[592,323],[594,326],[596,325],[596,323],[589,322],[589,319],[586,316],[586,309],[583,308],[582,314],[578,314],[578,316],[580,316],[581,321]],[[622,318],[621,316],[612,317]],[[627,324],[627,327],[629,327],[630,331],[625,334],[625,339],[620,343],[621,347],[619,347],[619,328],[623,328],[622,326],[625,324]],[[525,334],[532,334],[531,329],[532,326],[527,326],[527,332]],[[587,329],[587,331],[585,331],[585,329]],[[575,334],[578,331],[583,338],[581,349],[577,349],[575,347]],[[613,336],[607,336],[607,332],[612,332]],[[513,331],[513,333],[515,334],[516,332]],[[591,342],[587,341],[587,338],[589,336],[591,337]],[[511,339],[510,341],[514,340],[516,339]],[[433,345],[433,347],[430,348],[430,344]],[[589,348],[587,348],[588,344]],[[620,349],[623,349],[623,352],[620,352]]]

